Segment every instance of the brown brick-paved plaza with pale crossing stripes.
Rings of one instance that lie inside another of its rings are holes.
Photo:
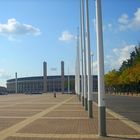
[[[140,139],[139,125],[108,109],[108,136],[99,137],[96,103],[93,103],[93,116],[88,118],[76,95],[0,96],[0,140]]]

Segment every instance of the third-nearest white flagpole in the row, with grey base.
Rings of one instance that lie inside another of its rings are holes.
[[[87,71],[86,71],[86,44],[85,44],[85,18],[84,18],[84,0],[82,0],[82,40],[84,48],[84,106],[85,110],[88,110],[87,106]]]

